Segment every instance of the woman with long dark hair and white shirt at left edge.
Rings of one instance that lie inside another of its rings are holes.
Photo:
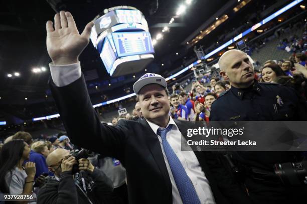
[[[29,159],[29,144],[22,139],[13,139],[4,144],[0,151],[0,191],[11,194],[33,194],[35,163]],[[31,202],[35,203],[35,202]]]

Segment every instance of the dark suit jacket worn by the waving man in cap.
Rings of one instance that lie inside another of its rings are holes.
[[[126,168],[130,203],[172,203],[172,185],[159,139],[146,120],[101,124],[83,76],[51,90],[68,136],[74,144],[119,159]],[[175,120],[180,131],[190,123]],[[217,203],[249,203],[212,152],[195,152]]]

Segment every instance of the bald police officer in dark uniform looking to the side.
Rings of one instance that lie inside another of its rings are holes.
[[[211,121],[307,120],[305,103],[294,89],[276,83],[257,82],[252,63],[243,51],[226,51],[219,59],[219,66],[221,72],[229,77],[232,87],[213,102]],[[232,154],[234,160],[244,166],[241,177],[253,202],[296,203],[307,192],[305,186],[283,185],[276,179],[273,169],[274,163],[302,159],[300,152],[241,151]],[[261,175],[255,171],[271,176],[261,180],[257,177]]]

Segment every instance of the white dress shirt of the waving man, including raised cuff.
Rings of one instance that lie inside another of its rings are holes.
[[[80,62],[68,65],[54,65],[53,63],[49,63],[49,66],[50,66],[52,80],[56,86],[68,85],[81,77]],[[151,127],[152,131],[154,131],[157,134],[157,130],[160,126],[148,120],[147,122]],[[177,127],[172,117],[170,117],[169,124],[174,124],[174,125],[172,127],[172,130],[167,133],[167,140],[172,146],[179,160],[181,161],[188,176],[190,177],[201,203],[202,204],[215,203],[213,193],[209,185],[209,181],[206,178],[205,173],[202,171],[202,168],[198,162],[195,153],[192,151],[191,147],[187,145],[186,142],[185,142],[186,145],[182,146],[181,143],[182,134],[179,131],[179,128]],[[167,166],[168,173],[170,175],[172,183],[173,203],[181,204],[183,202],[180,197],[175,179],[173,177],[173,173],[168,158],[164,152],[161,136],[158,134],[157,136],[160,141],[161,149],[164,156],[164,161]],[[184,151],[182,151],[181,149],[184,149]]]

